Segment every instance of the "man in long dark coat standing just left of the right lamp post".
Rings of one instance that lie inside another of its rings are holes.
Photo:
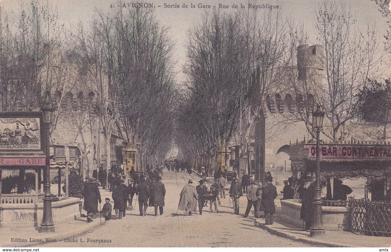
[[[312,184],[311,178],[304,179],[303,199],[301,200],[300,220],[305,221],[305,230],[310,232],[310,228],[314,226],[315,218],[315,186]]]

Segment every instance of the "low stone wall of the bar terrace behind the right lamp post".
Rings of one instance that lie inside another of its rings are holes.
[[[282,200],[281,208],[282,220],[292,223],[297,228],[303,228],[303,220],[300,220],[301,200]],[[349,207],[322,206],[322,218],[326,230],[350,231]]]

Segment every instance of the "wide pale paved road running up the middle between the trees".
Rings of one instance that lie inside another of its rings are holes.
[[[183,173],[165,171],[162,182],[166,187],[164,214],[153,216],[154,208],[148,207],[147,216],[139,216],[138,207],[127,211],[122,220],[109,220],[104,225],[77,239],[111,239],[111,243],[69,243],[58,241],[41,247],[310,247],[272,235],[254,226],[254,219],[231,214],[228,197],[222,199],[221,213],[203,212],[185,216],[177,211],[179,193],[190,176]],[[200,178],[193,174],[194,185]],[[111,193],[100,190],[102,199],[111,198]],[[227,192],[228,193],[228,192]],[[246,197],[240,199],[243,203]],[[135,202],[135,199],[133,200]],[[134,203],[133,203],[134,205]],[[245,209],[240,208],[243,215]],[[113,211],[114,213],[114,211]],[[250,216],[253,216],[251,211]],[[99,221],[95,219],[94,221]]]

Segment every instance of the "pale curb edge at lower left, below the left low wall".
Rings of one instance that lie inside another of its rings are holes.
[[[106,221],[103,219],[102,225],[104,225],[105,223],[106,223]],[[23,242],[23,243],[15,243],[14,242],[14,243],[0,244],[0,247],[3,247],[3,248],[7,248],[7,247],[8,248],[39,247],[39,245],[42,245],[42,244],[48,244],[48,243],[52,243],[52,242],[62,241],[65,238],[73,238],[75,236],[79,236],[79,235],[84,234],[84,233],[88,232],[89,230],[91,230],[95,227],[98,227],[98,226],[100,226],[100,221],[93,221],[91,224],[85,225],[84,227],[77,229],[76,232],[69,231],[69,232],[62,232],[62,233],[57,233],[57,234],[46,233],[48,235],[44,235],[44,233],[39,233],[39,234],[43,234],[43,235],[36,237],[35,239],[42,239],[43,242]],[[52,239],[52,240],[55,239],[56,241],[45,241],[46,238]],[[15,246],[15,245],[17,245],[17,246]]]

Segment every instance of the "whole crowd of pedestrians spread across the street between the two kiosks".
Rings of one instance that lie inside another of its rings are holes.
[[[181,162],[178,160],[167,161],[165,166],[169,171],[182,171]],[[173,168],[172,168],[173,167]],[[183,166],[182,166],[183,167]],[[191,170],[191,169],[190,169]],[[140,216],[145,216],[147,207],[155,208],[155,216],[163,214],[163,207],[165,205],[165,186],[161,182],[161,169],[148,169],[145,173],[137,173],[132,167],[129,175],[130,180],[126,180],[125,176],[120,173],[118,167],[111,167],[107,174],[108,190],[111,192],[111,198],[114,201],[114,206],[111,206],[110,198],[106,198],[106,203],[103,208],[98,211],[98,203],[100,206],[101,198],[98,186],[102,185],[102,189],[106,188],[104,182],[105,175],[100,171],[95,173],[99,179],[102,178],[100,184],[95,177],[92,177],[84,184],[84,209],[87,211],[87,221],[92,221],[96,216],[101,215],[106,220],[113,218],[111,211],[114,209],[115,217],[122,219],[126,216],[126,208],[130,207],[133,210],[133,198],[136,195],[138,198],[138,207]],[[186,171],[186,170],[184,170]],[[236,171],[233,171],[236,174]],[[185,211],[186,215],[192,215],[192,212],[198,211],[202,215],[204,207],[208,207],[210,203],[210,212],[219,213],[218,205],[221,205],[221,198],[226,198],[225,187],[227,180],[220,175],[214,180],[214,183],[209,185],[206,179],[206,169],[200,167],[199,174],[201,180],[199,185],[194,186],[193,180],[190,178],[181,193],[179,194],[178,210]],[[126,182],[127,185],[126,185]],[[265,218],[265,225],[272,225],[276,207],[274,200],[277,198],[276,187],[273,185],[273,176],[268,171],[265,173],[265,184],[262,182],[255,182],[253,178],[247,174],[242,176],[242,183],[239,184],[237,175],[233,177],[229,197],[233,203],[233,214],[239,215],[239,199],[246,193],[247,207],[244,217],[248,217],[251,209],[254,209],[256,218]],[[297,179],[290,177],[284,181],[284,187],[281,193],[283,200],[285,199],[300,199],[301,213],[300,217],[305,221],[305,230],[309,231],[314,222],[314,198],[315,186],[311,177],[305,176]],[[337,180],[334,184],[334,198],[333,200],[346,200],[347,194],[352,193],[352,189],[347,185],[343,185],[341,181]],[[127,204],[128,203],[128,204]]]

